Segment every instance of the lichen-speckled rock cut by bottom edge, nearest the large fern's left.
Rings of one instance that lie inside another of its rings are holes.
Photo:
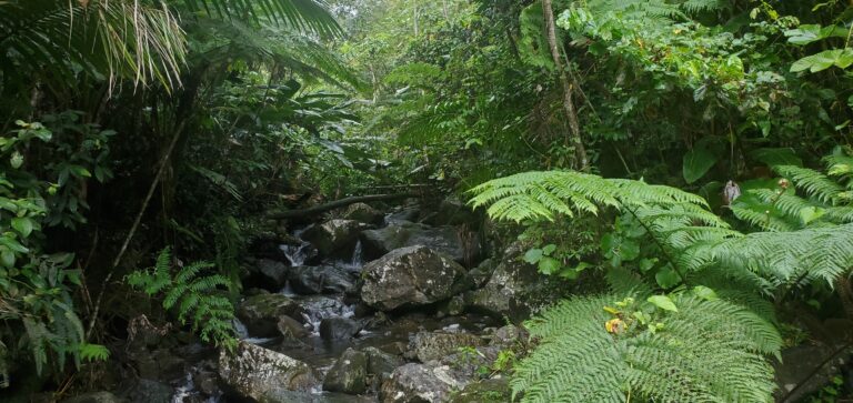
[[[379,399],[382,403],[440,403],[463,386],[446,366],[405,364],[383,380]]]

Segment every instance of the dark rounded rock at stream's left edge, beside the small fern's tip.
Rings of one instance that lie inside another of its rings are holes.
[[[245,299],[237,310],[237,316],[245,324],[249,334],[257,337],[279,335],[279,316],[303,318],[299,303],[281,294],[261,294]]]

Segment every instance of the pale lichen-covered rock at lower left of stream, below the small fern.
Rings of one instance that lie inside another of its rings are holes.
[[[279,387],[308,391],[318,384],[305,363],[245,342],[240,342],[233,353],[220,352],[219,376],[240,395],[254,400]]]

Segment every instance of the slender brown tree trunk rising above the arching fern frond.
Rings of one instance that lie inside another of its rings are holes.
[[[586,149],[583,147],[583,140],[581,140],[581,125],[578,122],[578,110],[575,109],[574,100],[572,99],[572,91],[576,85],[576,82],[569,79],[569,74],[563,68],[563,62],[560,58],[560,48],[556,43],[554,9],[551,4],[551,0],[542,0],[542,12],[545,19],[545,30],[548,31],[548,46],[551,48],[551,57],[554,59],[554,68],[560,74],[560,83],[563,87],[563,110],[565,111],[565,118],[569,120],[569,140],[572,145],[574,145],[576,168],[584,170],[588,164]]]

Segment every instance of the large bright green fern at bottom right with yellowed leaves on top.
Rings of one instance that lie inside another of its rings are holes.
[[[605,311],[621,299],[575,298],[528,323],[541,343],[515,366],[511,385],[523,392],[522,402],[772,400],[764,356],[779,352],[781,337],[771,323],[724,300],[682,295],[674,299],[678,312],[651,311],[643,324],[634,313],[650,304],[622,300],[618,311],[609,309],[615,313]],[[615,319],[624,328],[608,332]]]

